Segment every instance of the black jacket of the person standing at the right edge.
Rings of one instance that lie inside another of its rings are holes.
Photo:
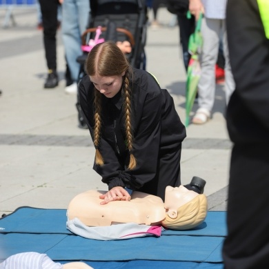
[[[257,0],[228,1],[227,35],[235,92],[227,110],[230,139],[269,143],[269,40]]]

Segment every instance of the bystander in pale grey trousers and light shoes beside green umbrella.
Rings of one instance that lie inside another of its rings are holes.
[[[201,77],[198,84],[199,109],[192,118],[192,123],[195,124],[206,123],[211,117],[215,101],[215,66],[221,40],[225,57],[226,104],[230,99],[230,94],[235,89],[227,45],[226,4],[227,0],[190,0],[189,9],[196,19],[199,17],[200,12],[204,14],[201,24],[203,48],[201,51]]]

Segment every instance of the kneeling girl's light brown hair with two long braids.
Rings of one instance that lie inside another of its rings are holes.
[[[132,68],[126,59],[126,56],[117,47],[113,41],[106,41],[94,46],[86,61],[86,71],[89,76],[98,74],[101,77],[118,76],[125,73],[121,87],[121,95],[123,96],[123,110],[125,112],[125,129],[126,144],[130,153],[130,161],[128,169],[132,170],[137,166],[135,156],[132,154],[133,147],[133,130],[132,130],[132,89],[130,88],[130,76]],[[101,93],[95,89],[94,91],[94,147],[95,147],[95,163],[103,166],[104,159],[99,150],[101,141]]]

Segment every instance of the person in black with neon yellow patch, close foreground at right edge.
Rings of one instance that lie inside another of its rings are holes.
[[[230,160],[226,269],[269,268],[269,1],[228,0],[235,77],[227,108]]]

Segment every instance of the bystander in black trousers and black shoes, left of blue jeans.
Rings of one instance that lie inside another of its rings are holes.
[[[42,23],[43,23],[43,43],[45,48],[46,63],[48,66],[48,77],[44,88],[55,88],[59,79],[57,74],[57,41],[56,34],[58,28],[57,10],[58,0],[39,0]]]

